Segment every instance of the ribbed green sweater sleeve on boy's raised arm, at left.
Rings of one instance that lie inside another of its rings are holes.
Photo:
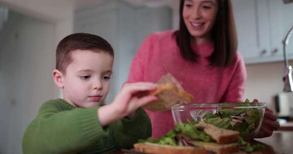
[[[97,107],[62,110],[43,104],[22,140],[23,153],[74,153],[107,135],[97,118]]]

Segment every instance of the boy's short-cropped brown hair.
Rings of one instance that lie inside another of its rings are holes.
[[[114,57],[113,48],[102,37],[89,33],[74,33],[63,38],[56,49],[56,69],[66,73],[67,66],[72,62],[72,51],[91,50],[92,52],[106,52]]]

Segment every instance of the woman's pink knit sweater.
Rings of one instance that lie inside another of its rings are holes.
[[[213,44],[193,45],[192,49],[200,56],[199,62],[187,61],[182,58],[172,34],[173,31],[157,32],[145,39],[133,59],[128,83],[157,82],[165,74],[165,66],[194,96],[192,103],[243,101],[246,69],[239,52],[232,65],[211,67],[206,57],[213,53]],[[152,122],[153,138],[174,128],[170,110],[146,111]]]

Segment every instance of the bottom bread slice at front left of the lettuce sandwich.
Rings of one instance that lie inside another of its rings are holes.
[[[202,147],[193,146],[172,146],[155,143],[136,143],[133,145],[136,151],[153,154],[206,154],[207,150]]]

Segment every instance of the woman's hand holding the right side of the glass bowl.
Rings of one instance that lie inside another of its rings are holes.
[[[258,102],[258,100],[254,99],[253,102]],[[277,116],[273,113],[271,109],[266,108],[260,130],[255,138],[272,136],[273,131],[277,130],[278,128],[280,128],[280,124],[277,123]]]

